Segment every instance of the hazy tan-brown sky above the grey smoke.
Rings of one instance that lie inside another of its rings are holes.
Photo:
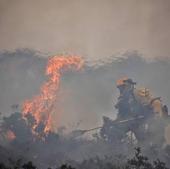
[[[0,50],[170,56],[169,0],[0,0]]]

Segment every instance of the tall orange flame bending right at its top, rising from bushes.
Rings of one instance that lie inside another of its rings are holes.
[[[49,58],[46,68],[48,81],[42,85],[39,95],[32,100],[25,101],[23,104],[23,116],[26,118],[26,115],[30,113],[35,118],[34,132],[40,123],[45,126],[45,133],[53,130],[52,113],[57,111],[55,103],[57,101],[62,70],[70,68],[79,70],[82,65],[83,60],[79,56],[61,55]]]

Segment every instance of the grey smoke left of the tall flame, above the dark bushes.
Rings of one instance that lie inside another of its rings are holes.
[[[0,53],[0,112],[8,115],[13,106],[39,92],[45,80],[46,59],[33,50]]]

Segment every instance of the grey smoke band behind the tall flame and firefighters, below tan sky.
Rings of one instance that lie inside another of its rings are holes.
[[[0,54],[0,111],[9,115],[11,105],[22,104],[39,93],[46,80],[47,57],[33,50],[22,49]],[[104,62],[85,62],[79,72],[66,72],[61,78],[59,99],[60,126],[91,128],[101,125],[102,116],[114,118],[118,96],[116,80],[133,78],[138,86],[149,88],[155,97],[162,97],[170,106],[170,59],[148,62],[138,52],[127,52]],[[58,110],[56,110],[58,111]],[[58,125],[57,125],[58,126]]]

